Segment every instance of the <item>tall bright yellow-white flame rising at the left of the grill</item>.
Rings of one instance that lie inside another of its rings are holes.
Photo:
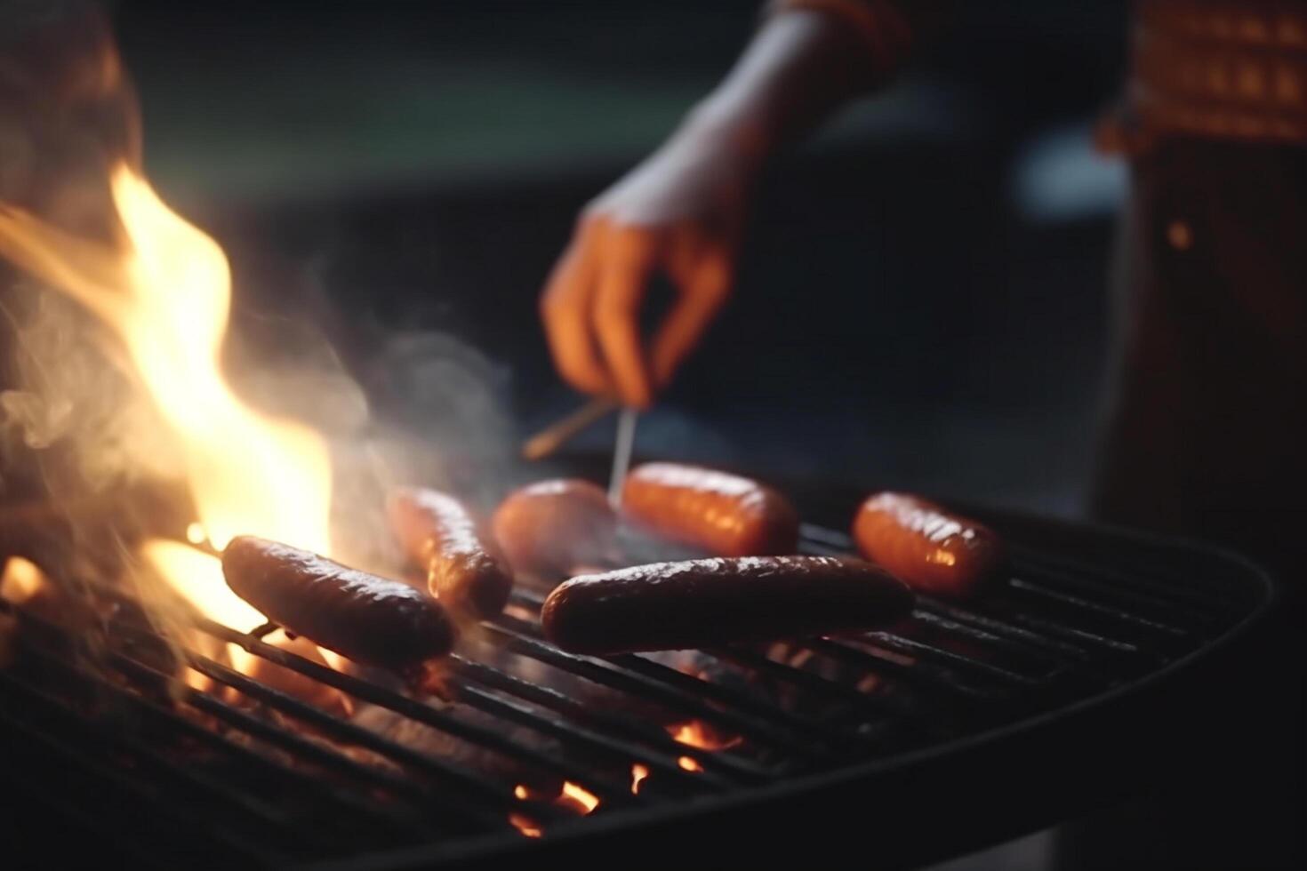
[[[243,404],[220,355],[231,282],[218,244],[171,212],[127,163],[110,172],[124,242],[68,235],[0,206],[0,256],[65,291],[122,341],[176,436],[199,511],[187,538],[222,548],[256,534],[329,552],[331,464],[315,431]],[[203,612],[235,629],[263,618],[234,597],[217,562],[180,542],[152,541],[142,558]]]

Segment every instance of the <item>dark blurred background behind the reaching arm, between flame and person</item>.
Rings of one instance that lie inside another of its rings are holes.
[[[514,437],[579,405],[538,326],[544,278],[758,5],[110,8],[148,175],[227,248],[239,303],[312,313],[379,418],[474,443],[451,390],[418,413],[378,358],[435,337],[435,371],[474,383]],[[957,5],[891,89],[771,167],[733,302],[639,454],[1077,511],[1124,191],[1090,136],[1125,3]],[[608,422],[582,447],[610,440]]]

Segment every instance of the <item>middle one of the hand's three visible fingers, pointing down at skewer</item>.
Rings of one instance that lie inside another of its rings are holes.
[[[654,401],[648,362],[640,342],[639,313],[656,260],[654,234],[609,229],[595,296],[595,336],[617,396],[646,409]]]

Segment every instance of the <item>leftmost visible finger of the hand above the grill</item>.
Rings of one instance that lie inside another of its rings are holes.
[[[608,370],[591,332],[597,274],[592,236],[592,229],[578,230],[540,295],[540,316],[554,367],[563,380],[583,393],[612,393]]]

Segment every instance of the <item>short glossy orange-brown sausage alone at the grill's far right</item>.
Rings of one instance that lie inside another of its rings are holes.
[[[853,518],[863,555],[921,593],[965,597],[1002,562],[985,526],[906,494],[874,494]]]

